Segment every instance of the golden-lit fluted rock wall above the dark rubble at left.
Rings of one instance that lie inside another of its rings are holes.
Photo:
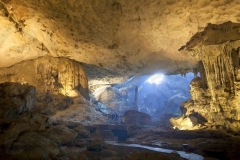
[[[38,92],[71,95],[80,92],[89,99],[88,81],[81,63],[68,58],[41,57],[0,69],[0,82],[31,84]]]

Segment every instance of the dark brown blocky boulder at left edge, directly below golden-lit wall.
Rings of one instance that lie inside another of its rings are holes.
[[[0,84],[0,118],[18,118],[35,104],[35,87],[10,82]]]

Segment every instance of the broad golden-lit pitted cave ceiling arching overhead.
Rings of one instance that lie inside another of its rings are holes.
[[[239,0],[1,0],[0,67],[50,55],[129,76],[189,71],[178,49],[208,23],[240,22]]]

